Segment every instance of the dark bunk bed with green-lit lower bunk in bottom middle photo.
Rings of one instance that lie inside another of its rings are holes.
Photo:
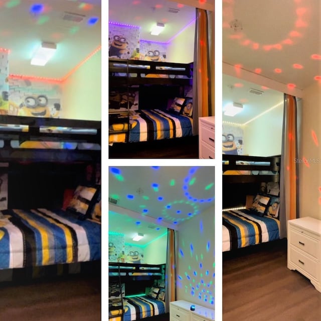
[[[155,286],[157,282],[164,287]],[[109,321],[149,319],[163,313],[165,264],[109,263]]]

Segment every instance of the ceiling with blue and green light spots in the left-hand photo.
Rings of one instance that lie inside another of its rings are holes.
[[[90,18],[98,21],[90,25]],[[61,79],[101,45],[101,0],[1,1],[0,26],[0,47],[10,50],[10,74]],[[41,42],[56,43],[57,51],[45,66],[33,66]]]

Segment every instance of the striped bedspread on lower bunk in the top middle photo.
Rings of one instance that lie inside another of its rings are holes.
[[[128,141],[145,142],[193,135],[193,120],[184,115],[168,114],[161,110],[141,110],[134,117]],[[126,134],[109,135],[109,144],[126,142]]]

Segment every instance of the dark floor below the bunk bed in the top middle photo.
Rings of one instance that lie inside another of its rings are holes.
[[[109,146],[109,158],[199,158],[198,139],[198,136],[193,136],[154,142],[114,143]]]

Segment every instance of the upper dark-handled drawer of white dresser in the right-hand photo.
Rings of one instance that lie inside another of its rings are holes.
[[[300,232],[294,229],[290,229],[290,244],[300,249],[304,253],[307,253],[318,260],[319,257],[319,241],[311,238],[306,234],[306,231]]]

